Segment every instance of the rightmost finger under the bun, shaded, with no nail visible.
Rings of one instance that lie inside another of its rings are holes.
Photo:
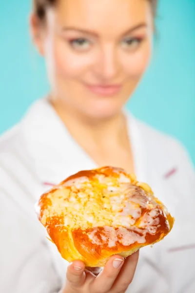
[[[139,251],[125,259],[124,265],[113,284],[113,293],[125,292],[127,287],[131,284],[136,271],[138,257]]]

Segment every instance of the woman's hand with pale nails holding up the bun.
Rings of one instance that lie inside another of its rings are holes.
[[[136,271],[138,251],[125,260],[113,255],[103,270],[96,276],[96,270],[85,268],[81,261],[72,262],[67,270],[63,293],[125,293]],[[94,272],[94,273],[93,273]]]

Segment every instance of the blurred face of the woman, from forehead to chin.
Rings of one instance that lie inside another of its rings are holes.
[[[116,115],[148,65],[152,33],[147,0],[59,0],[39,43],[53,96],[88,117]]]

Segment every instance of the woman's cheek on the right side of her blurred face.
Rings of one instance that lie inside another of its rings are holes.
[[[145,72],[151,57],[151,44],[145,43],[135,54],[126,57],[125,71],[130,78],[139,79]]]

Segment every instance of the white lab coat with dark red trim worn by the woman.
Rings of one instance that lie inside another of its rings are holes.
[[[176,140],[127,114],[135,171],[176,218],[172,232],[140,250],[128,293],[195,293],[195,172]],[[45,237],[34,204],[67,176],[97,167],[46,99],[0,139],[0,292],[57,293],[67,262]]]

